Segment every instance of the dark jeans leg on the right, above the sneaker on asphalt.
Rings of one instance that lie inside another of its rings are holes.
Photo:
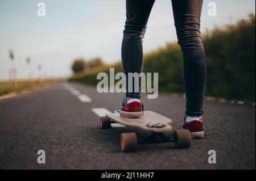
[[[187,116],[203,115],[207,63],[200,33],[203,0],[172,0],[178,43],[183,53]]]

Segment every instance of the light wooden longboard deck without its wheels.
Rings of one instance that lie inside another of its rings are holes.
[[[106,117],[126,127],[141,128],[155,133],[172,131],[172,120],[152,111],[144,111],[141,118],[122,117],[119,112],[106,113]]]

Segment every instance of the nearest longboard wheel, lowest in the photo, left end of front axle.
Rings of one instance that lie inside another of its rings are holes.
[[[121,150],[122,152],[135,151],[137,148],[136,133],[121,134]]]

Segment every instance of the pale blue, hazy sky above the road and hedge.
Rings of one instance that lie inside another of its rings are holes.
[[[46,16],[38,16],[39,2],[45,3]],[[210,2],[216,3],[216,16],[208,15]],[[0,80],[9,79],[13,66],[19,79],[31,73],[35,78],[67,77],[75,58],[101,57],[107,64],[121,60],[125,11],[125,0],[0,0]],[[236,23],[250,12],[255,14],[255,0],[205,0],[201,32]],[[144,52],[170,41],[177,41],[171,0],[156,0]],[[14,65],[9,49],[14,51]]]

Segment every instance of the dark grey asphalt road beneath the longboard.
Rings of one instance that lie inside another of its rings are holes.
[[[193,140],[191,148],[146,144],[135,153],[121,153],[120,133],[148,133],[129,128],[102,130],[92,108],[117,110],[123,94],[68,85],[0,100],[0,169],[255,169],[254,106],[206,101],[208,135]],[[79,99],[77,94],[87,96]],[[184,98],[159,95],[143,101],[146,110],[170,117],[174,128],[181,128]],[[46,151],[45,164],[37,162],[38,150]],[[216,164],[208,163],[209,150],[216,151]]]

